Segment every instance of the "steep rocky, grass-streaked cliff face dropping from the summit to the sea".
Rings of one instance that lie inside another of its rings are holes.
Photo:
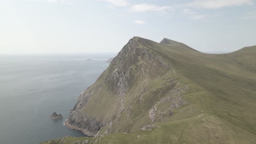
[[[89,136],[129,133],[165,121],[173,109],[188,104],[181,95],[189,87],[147,43],[152,41],[129,40],[94,85],[79,95],[65,121],[69,128]]]

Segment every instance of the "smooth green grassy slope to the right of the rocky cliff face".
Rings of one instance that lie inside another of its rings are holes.
[[[175,76],[190,87],[182,96],[189,105],[174,110],[174,115],[157,123],[153,131],[131,129],[132,133],[103,136],[99,143],[256,142],[256,46],[210,55],[184,45],[162,45],[142,38],[138,41],[174,66]],[[136,108],[141,107],[138,104]],[[143,123],[145,117],[138,121]],[[131,127],[139,123],[129,121]]]

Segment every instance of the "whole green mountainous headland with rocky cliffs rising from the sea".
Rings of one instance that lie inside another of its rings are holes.
[[[45,143],[255,143],[256,46],[220,55],[134,37]]]

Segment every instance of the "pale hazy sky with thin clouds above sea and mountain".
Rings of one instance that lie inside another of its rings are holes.
[[[0,0],[0,54],[119,52],[134,36],[202,52],[256,45],[254,0]]]

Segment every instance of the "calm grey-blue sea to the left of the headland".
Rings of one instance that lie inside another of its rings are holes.
[[[34,144],[85,136],[63,121],[75,98],[95,82],[115,53],[0,56],[0,143]],[[88,61],[87,59],[92,59]],[[53,121],[51,113],[63,119]]]

